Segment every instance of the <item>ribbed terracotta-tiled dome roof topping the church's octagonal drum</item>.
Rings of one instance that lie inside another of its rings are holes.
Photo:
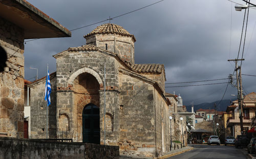
[[[83,37],[86,38],[86,37],[88,37],[90,35],[94,35],[94,34],[118,34],[118,35],[122,35],[122,36],[130,36],[133,38],[134,42],[136,41],[134,35],[130,34],[128,31],[123,29],[123,27],[115,25],[115,24],[110,24],[110,23],[98,26],[91,33],[84,35]]]

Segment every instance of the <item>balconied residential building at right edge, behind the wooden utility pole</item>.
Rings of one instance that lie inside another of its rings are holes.
[[[256,94],[254,92],[246,95],[243,100],[243,131],[251,128],[251,119],[255,117],[256,110]],[[226,112],[231,114],[228,118],[226,126],[230,128],[231,135],[235,137],[241,134],[239,104],[238,100],[232,102],[232,105],[227,107]]]

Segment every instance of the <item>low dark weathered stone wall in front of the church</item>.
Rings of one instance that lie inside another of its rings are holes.
[[[0,138],[0,158],[119,158],[118,146]]]

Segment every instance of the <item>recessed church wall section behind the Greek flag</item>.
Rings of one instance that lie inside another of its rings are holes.
[[[56,135],[56,73],[50,75],[51,82],[51,104],[48,107],[49,118],[49,137],[50,139],[57,138]],[[32,84],[30,87],[30,108],[31,108],[31,138],[46,139],[46,108],[45,101],[45,86],[46,77]],[[66,130],[66,129],[65,129]]]

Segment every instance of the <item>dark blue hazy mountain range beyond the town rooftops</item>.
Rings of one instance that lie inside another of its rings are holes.
[[[234,101],[236,99],[231,99],[231,101]],[[214,109],[214,103],[219,103],[220,101],[215,101],[215,102],[211,102],[211,103],[201,103],[201,104],[196,104],[194,105],[194,111],[202,108],[202,109]],[[216,107],[216,110],[218,111],[226,111],[227,106],[230,105],[230,100],[229,99],[225,99],[222,100]],[[186,106],[187,111],[191,112],[191,105]]]

